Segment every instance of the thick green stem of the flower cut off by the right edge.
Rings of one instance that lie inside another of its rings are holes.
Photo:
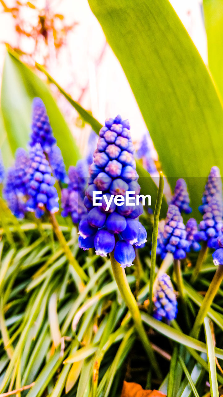
[[[223,280],[223,265],[219,265],[213,279],[209,285],[208,291],[204,297],[202,305],[200,306],[199,312],[196,316],[196,320],[194,322],[194,326],[191,331],[191,336],[198,339],[200,328],[204,322],[204,318],[206,317],[208,310],[210,309],[211,303],[221,285]]]

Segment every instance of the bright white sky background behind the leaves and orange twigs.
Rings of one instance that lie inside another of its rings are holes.
[[[5,1],[7,6],[13,5],[13,0]],[[37,0],[33,3],[44,6],[45,1]],[[108,44],[106,45],[104,33],[92,14],[87,0],[62,0],[61,2],[48,0],[48,4],[54,7],[55,13],[63,13],[67,23],[78,22],[69,35],[67,46],[60,58],[56,59],[53,52],[50,54],[48,71],[75,100],[80,98],[84,89],[81,104],[92,110],[94,117],[98,118],[101,123],[104,123],[105,118],[115,117],[117,114],[121,114],[123,118],[129,118],[133,141],[138,141],[146,131],[146,126],[125,74],[112,50]],[[201,1],[171,0],[171,4],[194,40],[204,62],[207,63]],[[25,17],[28,19],[34,17],[33,10],[30,10],[29,15]],[[6,41],[13,46],[17,45],[13,24],[14,20],[9,13],[0,14],[0,71],[2,71],[5,53],[5,46],[1,43]],[[23,40],[21,45],[32,52],[30,40]],[[100,57],[101,62],[98,65]],[[37,61],[41,63],[41,57]],[[90,128],[87,126],[86,134],[80,134],[80,129],[75,126],[77,114],[67,105],[64,98],[60,97],[58,101],[84,154],[86,136],[90,133]],[[155,151],[154,157],[156,157]]]

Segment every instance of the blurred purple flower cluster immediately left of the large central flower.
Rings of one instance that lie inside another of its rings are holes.
[[[84,194],[87,182],[87,166],[85,160],[79,160],[76,167],[70,166],[68,171],[68,187],[62,189],[61,200],[63,211],[61,215],[71,215],[73,223],[79,223],[87,210],[84,205]]]

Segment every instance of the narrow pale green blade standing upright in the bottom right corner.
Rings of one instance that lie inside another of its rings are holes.
[[[204,319],[204,331],[205,331],[205,339],[207,344],[207,357],[208,357],[208,370],[209,370],[211,397],[216,397],[219,395],[219,393],[218,393],[217,371],[216,371],[216,362],[215,362],[215,347],[214,347],[213,337],[211,334],[210,320],[208,317],[205,317]]]

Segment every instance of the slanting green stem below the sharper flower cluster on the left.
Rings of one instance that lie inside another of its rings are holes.
[[[56,216],[55,214],[50,214],[50,220],[54,229],[54,232],[60,242],[60,245],[65,253],[65,255],[67,256],[67,259],[69,260],[70,264],[73,266],[75,272],[78,274],[78,276],[81,278],[81,282],[79,283],[79,290],[83,291],[85,285],[83,283],[83,281],[88,281],[88,277],[87,274],[85,274],[84,270],[81,268],[81,266],[79,265],[79,263],[77,262],[77,260],[74,258],[69,246],[67,245],[67,241],[65,239],[65,237],[63,236],[63,233],[60,229],[60,226],[56,220]]]

